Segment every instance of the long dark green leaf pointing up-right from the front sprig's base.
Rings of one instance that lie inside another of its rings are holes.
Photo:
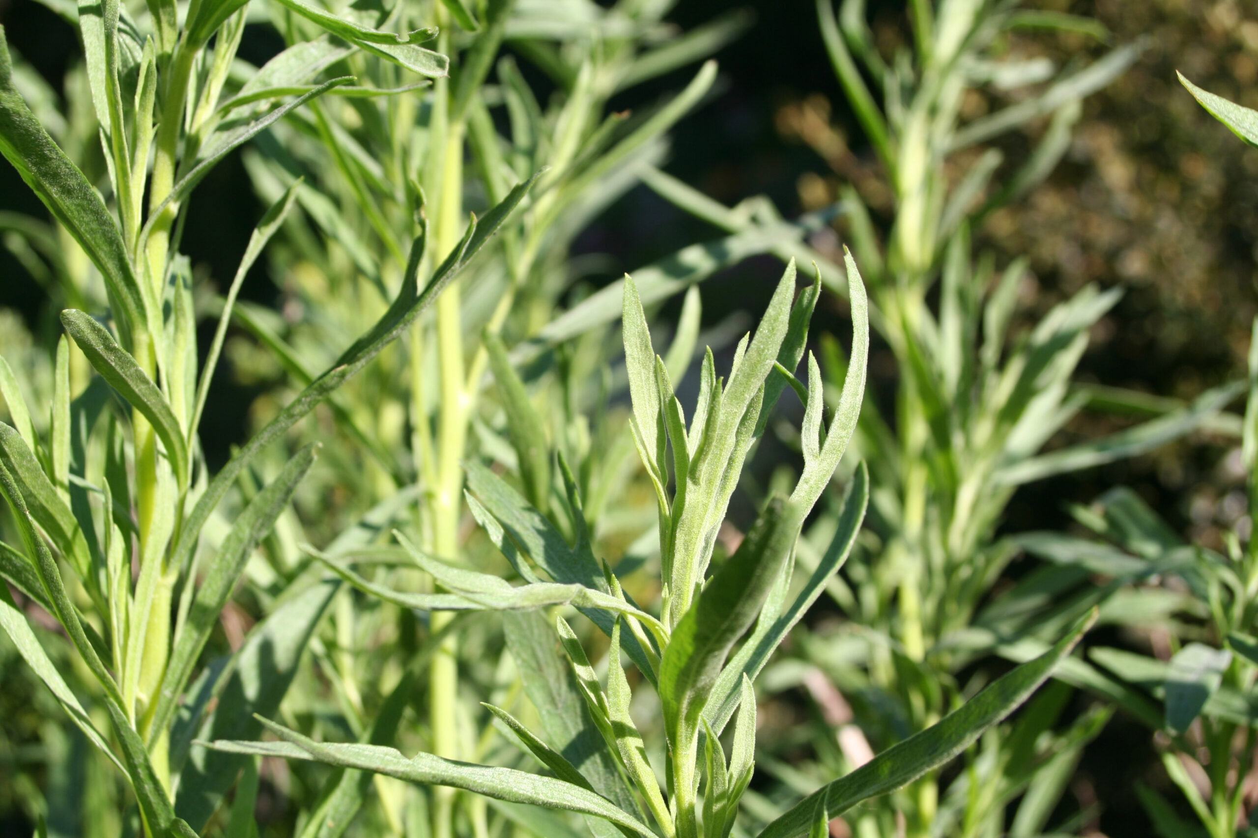
[[[893,745],[840,780],[821,786],[765,827],[757,838],[796,838],[808,832],[818,805],[837,817],[868,798],[911,783],[965,751],[990,726],[998,723],[1053,674],[1096,619],[1096,610],[1043,656],[1001,676],[942,721]]]

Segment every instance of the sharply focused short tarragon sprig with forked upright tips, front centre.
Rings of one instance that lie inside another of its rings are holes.
[[[508,643],[543,730],[531,730],[503,708],[488,710],[547,774],[470,765],[424,752],[406,757],[382,745],[317,742],[272,721],[265,723],[278,741],[220,740],[213,746],[235,754],[322,761],[575,812],[586,815],[599,835],[615,830],[647,838],[728,835],[754,770],[754,679],[828,578],[820,574],[810,580],[788,605],[786,585],[801,523],[829,487],[855,429],[863,396],[867,307],[850,257],[847,272],[855,328],[853,361],[829,423],[824,420],[816,360],[809,355],[806,385],[791,372],[803,360],[808,322],[820,291],[814,284],[795,298],[794,264],[755,335],[740,342],[727,379],[716,375],[713,356],[706,355],[701,395],[688,425],[663,359],[654,352],[638,289],[625,279],[630,423],[659,503],[659,615],[626,596],[616,575],[594,555],[581,498],[562,459],[575,544],[508,483],[481,466],[468,467],[473,510],[511,561],[520,585],[445,564],[404,537],[399,541],[411,557],[448,593],[400,594],[325,559],[360,589],[398,604],[424,610],[503,612]],[[798,389],[806,405],[801,477],[789,496],[775,496],[764,505],[740,546],[713,569],[716,534],[743,458],[788,386]],[[840,565],[850,550],[867,497],[868,477],[858,467],[843,503],[843,525],[832,544],[832,566]],[[530,615],[546,608],[574,608],[609,638],[605,683],[562,614],[552,614],[550,620]],[[1086,617],[1044,656],[1018,667],[930,730],[800,800],[760,834],[824,834],[830,817],[947,761],[1021,703],[1091,619]],[[556,666],[559,657],[562,663]],[[634,693],[626,666],[637,669],[639,692],[649,684],[658,695],[663,765],[650,763],[649,754],[657,749],[644,742],[630,713]],[[727,757],[720,737],[731,720]]]

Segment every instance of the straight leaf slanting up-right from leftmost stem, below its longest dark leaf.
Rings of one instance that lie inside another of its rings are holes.
[[[205,579],[192,598],[187,620],[179,629],[157,690],[157,701],[152,711],[151,730],[155,731],[152,736],[159,735],[156,731],[165,731],[170,725],[179,696],[187,684],[192,667],[209,642],[223,608],[231,598],[231,591],[244,575],[249,556],[253,555],[258,542],[270,532],[279,515],[288,508],[297,484],[314,464],[318,448],[318,443],[311,443],[297,452],[276,479],[249,501],[244,511],[237,516],[214,560],[205,569]]]

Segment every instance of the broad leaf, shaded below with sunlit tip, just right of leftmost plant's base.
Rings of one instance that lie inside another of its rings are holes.
[[[262,725],[252,713],[274,713],[288,692],[302,652],[318,627],[340,581],[322,581],[287,600],[259,623],[235,654],[234,671],[208,722],[214,739],[252,739]],[[235,781],[244,760],[233,754],[192,749],[179,781],[175,812],[204,829]]]

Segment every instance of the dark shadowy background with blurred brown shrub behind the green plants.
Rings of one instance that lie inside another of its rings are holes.
[[[868,5],[881,52],[891,54],[910,36],[905,4],[871,0]],[[1072,33],[1010,36],[1005,49],[1011,54],[1069,67],[1103,54],[1107,43],[1144,38],[1146,49],[1117,82],[1086,101],[1073,143],[1048,181],[975,229],[975,250],[994,252],[998,264],[1019,255],[1030,259],[1020,288],[1018,317],[1023,325],[1038,321],[1089,282],[1125,289],[1120,303],[1093,327],[1077,380],[1189,400],[1243,376],[1249,326],[1258,312],[1258,190],[1253,189],[1258,151],[1237,142],[1201,111],[1179,86],[1175,70],[1225,98],[1258,108],[1258,1],[1042,0],[1032,5],[1094,18],[1108,30],[1107,38]],[[788,218],[825,206],[842,186],[853,185],[876,221],[889,219],[884,172],[844,102],[816,35],[811,3],[686,0],[671,19],[689,29],[721,13],[743,9],[755,15],[755,23],[717,55],[721,81],[708,102],[672,132],[664,169],[725,204],[765,194]],[[34,0],[0,0],[0,23],[13,48],[62,93],[67,69],[78,55],[74,31]],[[281,47],[273,33],[249,26],[240,55],[260,65]],[[530,82],[545,89],[545,79],[522,64]],[[620,109],[650,103],[684,84],[691,72],[686,68],[639,86],[614,98],[611,106]],[[974,118],[1009,103],[998,94],[971,92],[965,116]],[[1025,160],[1045,127],[1047,118],[1000,138],[1008,170]],[[224,288],[263,209],[239,152],[234,154],[191,201],[182,249],[192,269]],[[0,211],[5,210],[42,214],[16,172],[0,164]],[[821,230],[811,243],[839,260],[844,232],[839,219],[834,230]],[[598,287],[625,269],[716,233],[638,186],[582,233],[575,252],[590,254],[586,282]],[[703,325],[721,323],[737,311],[761,311],[780,271],[776,259],[760,257],[707,282]],[[297,318],[297,298],[289,293],[293,283],[274,262],[263,259],[245,281],[242,298]],[[23,341],[49,346],[55,341],[57,312],[47,299],[39,277],[0,248],[0,354],[9,356]],[[837,327],[845,320],[844,304],[833,294],[821,297],[815,321],[819,332],[847,331]],[[664,317],[676,317],[679,306],[678,298],[664,310]],[[18,328],[19,323],[25,328]],[[33,338],[26,337],[28,331]],[[201,335],[205,342],[209,337],[209,332]],[[250,351],[250,346],[244,332],[233,332],[215,383],[203,432],[211,468],[257,425],[259,411],[267,410],[268,391],[282,380],[278,365],[268,364],[268,356]],[[874,344],[869,375],[869,398],[889,406],[886,399],[894,390],[896,365],[884,345]],[[47,370],[33,371],[28,380],[48,376]],[[1123,424],[1122,418],[1082,413],[1049,449]],[[772,466],[764,455],[756,464],[766,477]],[[1081,532],[1071,522],[1068,505],[1088,503],[1106,488],[1126,484],[1181,535],[1222,549],[1223,534],[1247,512],[1244,478],[1238,440],[1196,434],[1149,455],[1024,487],[1009,506],[1004,527],[1010,532]],[[335,528],[330,526],[330,531]],[[1009,574],[1016,576],[1023,570],[1015,562]],[[810,619],[825,620],[824,609],[818,612]],[[1156,640],[1131,634],[1106,639],[1145,652]],[[3,735],[47,742],[55,739],[40,730],[55,726],[42,721],[55,717],[42,706],[50,698],[33,690],[30,679],[10,677],[10,669],[20,666],[15,656],[0,661],[0,713],[6,718]],[[784,702],[762,711],[770,715],[770,727],[785,726],[793,715],[806,712],[801,698],[800,706],[789,702],[786,695]],[[775,721],[772,713],[780,717]],[[20,752],[20,741],[10,745],[9,752]],[[1105,803],[1083,832],[1150,834],[1152,824],[1132,790],[1137,780],[1169,788],[1146,730],[1120,713],[1086,750],[1072,780],[1071,794],[1079,810],[1097,800]],[[20,794],[20,789],[0,784],[3,834],[8,834],[6,824],[15,825],[6,817]],[[1258,798],[1258,789],[1250,794]]]

